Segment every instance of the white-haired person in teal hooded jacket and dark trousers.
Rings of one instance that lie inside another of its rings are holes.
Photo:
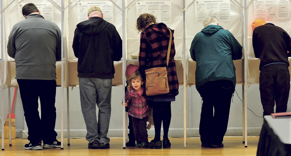
[[[203,100],[199,133],[202,147],[220,148],[236,84],[232,60],[241,59],[242,47],[215,18],[205,19],[203,26],[190,48],[191,58],[197,63],[196,88]]]

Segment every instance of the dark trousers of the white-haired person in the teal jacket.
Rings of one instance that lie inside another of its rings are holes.
[[[210,81],[199,90],[203,100],[199,125],[201,143],[222,143],[227,130],[233,92],[234,84],[229,80]]]

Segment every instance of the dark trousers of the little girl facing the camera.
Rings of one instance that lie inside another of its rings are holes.
[[[148,141],[148,131],[146,127],[148,116],[144,117],[143,119],[135,118],[133,116],[131,118],[136,142]]]

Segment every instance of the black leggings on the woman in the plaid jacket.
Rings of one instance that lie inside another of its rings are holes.
[[[171,123],[171,101],[150,101],[148,100],[150,106],[152,106],[152,117],[155,126],[155,141],[161,140],[161,127],[163,121],[164,129],[164,139],[168,139],[168,132]]]

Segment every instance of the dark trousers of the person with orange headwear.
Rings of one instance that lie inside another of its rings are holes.
[[[287,64],[269,64],[260,72],[260,94],[263,115],[286,112],[290,91],[290,73]]]

